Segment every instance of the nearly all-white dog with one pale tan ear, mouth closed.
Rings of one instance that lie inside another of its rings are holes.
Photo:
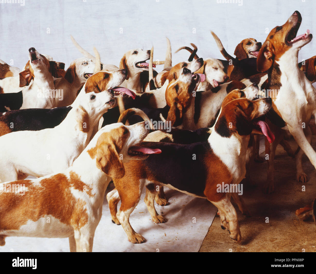
[[[89,92],[76,100],[55,128],[1,136],[1,182],[18,180],[19,173],[41,177],[68,168],[88,145],[98,119],[114,104],[112,90]]]

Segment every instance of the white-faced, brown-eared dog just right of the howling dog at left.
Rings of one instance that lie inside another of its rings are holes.
[[[78,58],[70,63],[65,76],[54,80],[55,89],[64,91],[62,100],[58,97],[55,98],[57,107],[69,106],[75,101],[77,92],[94,74],[94,68],[94,62],[87,58]]]

